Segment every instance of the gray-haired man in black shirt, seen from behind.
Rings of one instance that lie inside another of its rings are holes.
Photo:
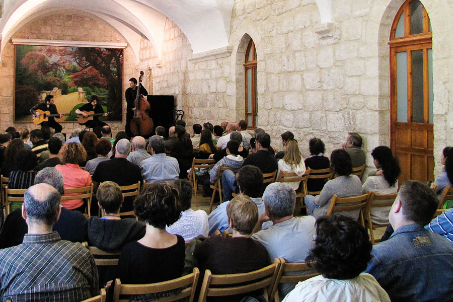
[[[94,191],[97,191],[99,184],[104,181],[113,181],[119,186],[129,186],[138,182],[143,184],[140,168],[127,160],[129,152],[129,140],[126,138],[118,140],[115,146],[115,158],[100,162],[96,167],[93,174]],[[133,209],[133,201],[133,197],[124,198],[121,211],[131,211]]]

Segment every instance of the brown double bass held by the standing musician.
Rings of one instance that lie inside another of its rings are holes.
[[[150,135],[154,129],[153,119],[149,117],[151,106],[149,102],[140,94],[140,83],[143,79],[143,71],[137,83],[137,96],[135,97],[134,117],[130,121],[130,131],[134,136]]]

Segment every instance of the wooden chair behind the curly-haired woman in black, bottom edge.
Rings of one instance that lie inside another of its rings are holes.
[[[162,298],[157,298],[153,301],[176,301],[187,297],[189,302],[193,301],[195,288],[197,286],[198,276],[200,271],[194,267],[191,274],[183,277],[150,284],[121,284],[120,279],[115,279],[115,289],[113,291],[113,302],[129,301],[129,299],[120,299],[120,295],[132,294],[149,294],[164,291],[172,291],[183,288],[181,291],[175,291],[175,294]]]

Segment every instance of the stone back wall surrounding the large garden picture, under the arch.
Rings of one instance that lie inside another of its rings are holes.
[[[111,26],[99,19],[93,19],[86,15],[73,15],[69,12],[54,14],[52,18],[43,16],[29,24],[25,24],[13,38],[30,39],[53,39],[53,40],[78,40],[98,42],[125,42],[123,37]],[[124,91],[129,86],[127,74],[131,74],[135,68],[135,58],[129,49],[125,49],[124,57]],[[0,129],[6,129],[14,125],[17,129],[27,127],[37,128],[33,123],[13,123],[14,113],[14,45],[7,44],[2,53],[0,63]],[[123,94],[124,94],[123,91]],[[123,96],[124,98],[124,96]],[[125,121],[125,105],[123,99],[123,117]],[[114,132],[124,130],[125,122],[111,122]],[[81,127],[77,122],[63,122],[63,131],[70,134],[73,128]],[[83,127],[83,126],[82,126]],[[69,137],[69,136],[67,136]]]

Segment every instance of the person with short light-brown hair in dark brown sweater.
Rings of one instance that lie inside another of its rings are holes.
[[[209,269],[212,274],[248,273],[270,264],[266,249],[252,239],[258,222],[258,207],[246,195],[238,195],[226,207],[228,224],[233,237],[211,236],[195,246],[193,257],[201,272]],[[239,302],[245,296],[263,294],[248,292],[227,297],[210,298],[210,301]]]

